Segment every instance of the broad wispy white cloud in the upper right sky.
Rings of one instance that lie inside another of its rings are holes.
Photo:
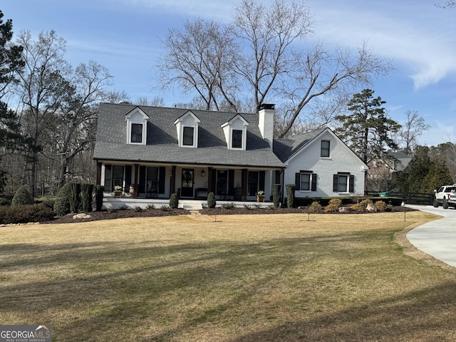
[[[401,4],[385,1],[373,11],[356,1],[343,8],[315,3],[316,36],[353,47],[368,41],[375,53],[393,58],[409,74],[415,90],[456,72],[454,17],[431,3]]]

